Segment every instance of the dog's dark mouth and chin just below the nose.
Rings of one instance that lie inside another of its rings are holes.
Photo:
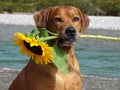
[[[60,46],[73,46],[74,44],[76,44],[76,42],[76,38],[60,38],[58,41]]]

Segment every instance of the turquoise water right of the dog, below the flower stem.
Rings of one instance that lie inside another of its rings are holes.
[[[120,42],[83,39],[76,46],[83,74],[120,77]]]

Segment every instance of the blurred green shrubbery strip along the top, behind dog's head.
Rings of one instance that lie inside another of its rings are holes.
[[[120,0],[0,0],[0,13],[33,13],[56,5],[73,5],[88,15],[120,16]]]

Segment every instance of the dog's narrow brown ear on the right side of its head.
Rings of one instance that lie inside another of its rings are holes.
[[[87,34],[87,28],[89,26],[90,19],[88,18],[86,14],[84,14],[80,10],[78,11],[79,11],[79,15],[81,17],[81,22],[82,22],[82,33]]]

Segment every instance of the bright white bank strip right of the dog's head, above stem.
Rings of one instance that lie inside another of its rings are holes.
[[[113,16],[90,16],[92,29],[120,30],[120,17]]]

